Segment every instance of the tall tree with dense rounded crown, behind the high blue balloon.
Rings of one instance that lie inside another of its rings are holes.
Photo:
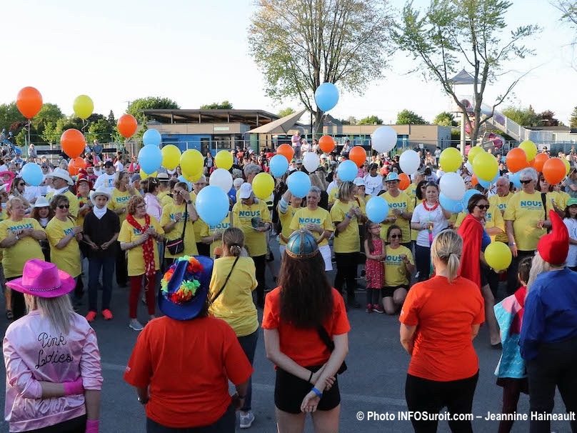
[[[313,103],[324,82],[362,94],[383,76],[391,16],[387,0],[257,0],[249,26],[251,54],[266,94],[298,99],[322,129]]]

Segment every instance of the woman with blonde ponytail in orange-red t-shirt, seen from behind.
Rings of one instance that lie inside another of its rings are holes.
[[[478,285],[458,276],[463,239],[443,230],[431,244],[435,277],[408,292],[401,316],[401,344],[411,355],[405,384],[409,411],[471,414],[478,379],[473,339],[485,319]],[[436,420],[412,420],[413,429],[435,432]],[[471,421],[448,422],[452,432],[473,432]]]

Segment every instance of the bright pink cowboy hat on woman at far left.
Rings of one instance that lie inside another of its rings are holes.
[[[56,298],[74,290],[76,282],[55,264],[31,259],[24,264],[22,277],[6,282],[6,286],[35,297]]]

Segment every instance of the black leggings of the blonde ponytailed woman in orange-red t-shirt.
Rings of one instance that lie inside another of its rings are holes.
[[[428,412],[438,414],[443,407],[450,414],[471,414],[473,396],[477,386],[478,372],[467,379],[437,382],[407,374],[405,398],[410,412]],[[415,433],[434,433],[437,420],[411,419]],[[471,420],[449,421],[448,427],[453,433],[473,433]]]

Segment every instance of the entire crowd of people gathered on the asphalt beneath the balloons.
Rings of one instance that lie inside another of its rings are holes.
[[[210,152],[194,182],[179,178],[179,167],[141,179],[136,159],[103,160],[87,149],[86,169],[74,179],[66,160],[52,166],[30,156],[45,176],[31,186],[4,160],[0,248],[6,318],[14,320],[4,340],[11,432],[98,431],[102,377],[89,323],[99,315],[114,319],[113,279],[129,287],[128,323],[140,332],[124,378],[146,406],[148,432],[232,432],[235,409],[240,427],[251,427],[259,327],[276,366],[279,431],[302,431],[306,413],[316,431],[338,431],[347,310],[361,308],[360,288],[367,314],[400,315],[401,344],[411,355],[409,410],[471,413],[478,379],[472,341],[485,323],[488,343],[503,350],[496,371],[503,414],[516,411],[522,392],[530,392],[531,411],[551,413],[556,387],[567,411],[577,412],[574,166],[556,185],[523,169],[516,188],[498,156],[501,176],[485,189],[463,164],[458,174],[478,194],[452,213],[439,201],[440,149],[417,149],[421,167],[401,189],[398,155],[370,154],[356,179],[342,181],[338,164],[350,143],[331,154],[299,134],[291,144],[294,159],[266,200],[256,198],[252,181],[269,171],[274,153],[231,150],[229,214],[216,225],[202,221],[195,207],[216,169]],[[303,167],[308,151],[322,156],[313,172]],[[291,194],[286,179],[293,171],[311,180],[306,196]],[[373,196],[388,203],[382,222],[368,219]],[[504,271],[491,269],[483,254],[495,241],[511,249]],[[267,272],[276,288],[266,285]],[[141,302],[146,326],[138,318]],[[163,317],[156,319],[156,307]],[[44,371],[36,354],[56,346],[52,358],[66,364]],[[193,357],[194,372],[181,362]],[[468,421],[449,426],[472,431]],[[499,431],[511,426],[501,422]],[[531,421],[531,432],[548,426]],[[436,431],[436,422],[414,420],[413,428]],[[577,431],[574,420],[571,428]]]

